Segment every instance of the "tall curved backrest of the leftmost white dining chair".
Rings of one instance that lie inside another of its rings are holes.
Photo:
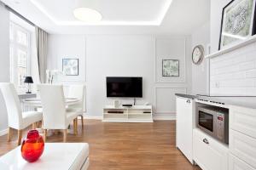
[[[0,82],[0,88],[8,113],[9,127],[20,129],[22,125],[22,110],[15,86],[10,82]]]

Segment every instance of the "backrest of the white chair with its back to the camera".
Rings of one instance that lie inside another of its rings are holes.
[[[62,85],[41,84],[40,90],[45,129],[66,129],[67,116]]]

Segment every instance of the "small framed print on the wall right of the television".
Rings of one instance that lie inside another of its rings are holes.
[[[179,60],[162,60],[162,77],[179,77]]]

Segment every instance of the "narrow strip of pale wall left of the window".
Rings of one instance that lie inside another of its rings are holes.
[[[9,11],[0,2],[0,82],[9,82]],[[8,127],[7,112],[0,93],[0,134]]]

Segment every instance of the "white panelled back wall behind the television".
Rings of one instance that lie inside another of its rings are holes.
[[[181,46],[173,46],[180,42]],[[163,47],[160,47],[164,44]],[[174,53],[173,47],[181,50]],[[61,69],[61,59],[76,56],[82,62],[81,77],[62,77],[66,83],[86,84],[86,108],[90,116],[102,116],[103,105],[113,104],[106,97],[106,77],[143,77],[143,99],[137,104],[149,102],[157,116],[172,117],[175,112],[175,93],[190,91],[191,51],[189,37],[155,37],[140,35],[50,35],[49,68]],[[85,52],[85,54],[84,54]],[[162,55],[164,54],[164,55]],[[162,58],[180,59],[182,82],[164,81],[157,75]],[[155,68],[156,67],[156,68]],[[85,77],[84,77],[85,75]],[[68,82],[67,82],[68,81]],[[122,99],[122,103],[132,103]]]

